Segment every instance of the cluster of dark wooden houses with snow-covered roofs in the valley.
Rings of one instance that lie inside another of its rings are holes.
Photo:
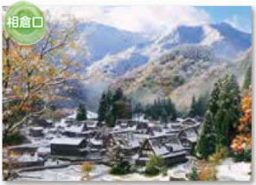
[[[160,124],[148,120],[118,119],[115,127],[106,127],[96,120],[77,121],[74,117],[60,123],[42,121],[24,128],[29,144],[12,146],[8,152],[18,153],[17,167],[43,166],[50,159],[101,162],[106,152],[118,146],[125,158],[144,165],[154,154],[165,163],[186,160],[201,128],[196,118],[177,118]]]

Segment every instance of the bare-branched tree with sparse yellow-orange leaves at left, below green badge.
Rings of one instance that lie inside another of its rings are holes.
[[[78,63],[67,54],[67,48],[76,48],[76,22],[69,18],[68,24],[48,22],[45,38],[30,46],[16,44],[3,31],[3,138],[48,110],[48,103],[60,98],[56,87],[80,79],[74,73]]]

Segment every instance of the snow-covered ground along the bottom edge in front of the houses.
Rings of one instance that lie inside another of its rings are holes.
[[[167,175],[145,176],[139,173],[128,175],[110,175],[110,168],[105,165],[95,165],[90,173],[91,181],[170,181],[170,175],[185,178],[188,172],[187,163],[177,165],[168,170]],[[62,169],[44,169],[42,171],[29,171],[20,173],[16,181],[80,181],[82,173],[80,165],[69,166]]]

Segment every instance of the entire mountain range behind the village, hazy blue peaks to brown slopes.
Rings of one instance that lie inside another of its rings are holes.
[[[89,53],[78,61],[92,80],[76,89],[93,109],[101,92],[118,86],[143,103],[168,96],[186,108],[224,73],[239,74],[241,81],[251,60],[252,35],[226,22],[179,25],[152,36],[96,22],[80,22],[78,28],[80,45]],[[245,69],[237,68],[242,62]]]

